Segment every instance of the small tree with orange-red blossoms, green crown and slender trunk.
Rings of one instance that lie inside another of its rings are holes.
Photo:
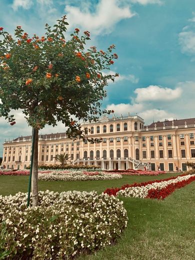
[[[66,16],[53,27],[45,25],[45,35],[29,37],[21,26],[15,37],[0,27],[0,116],[15,124],[11,109],[21,109],[34,133],[32,165],[32,202],[38,203],[38,130],[45,124],[55,126],[61,121],[68,127],[69,137],[84,138],[79,120],[96,121],[101,113],[100,100],[106,96],[103,87],[115,75],[102,70],[113,64],[114,45],[104,52],[92,46],[85,50],[89,32],[79,37],[75,28],[65,40]],[[77,120],[72,119],[72,115]],[[97,141],[94,139],[92,141]]]

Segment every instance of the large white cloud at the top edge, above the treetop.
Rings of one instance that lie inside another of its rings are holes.
[[[94,34],[109,33],[118,21],[135,15],[128,4],[120,6],[118,0],[100,0],[93,12],[87,7],[66,5],[65,13],[72,26],[82,26]]]

